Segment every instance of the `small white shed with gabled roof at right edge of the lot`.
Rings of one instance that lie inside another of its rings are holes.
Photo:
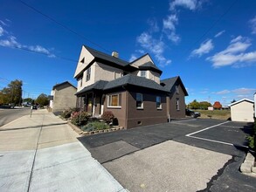
[[[250,99],[241,99],[232,103],[231,115],[232,121],[253,122],[254,116],[254,101]]]

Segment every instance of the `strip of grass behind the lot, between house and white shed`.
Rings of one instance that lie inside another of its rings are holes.
[[[217,120],[227,120],[231,117],[230,110],[194,110],[195,112],[201,113],[201,118],[207,118],[209,119],[211,116],[211,119],[217,119]]]

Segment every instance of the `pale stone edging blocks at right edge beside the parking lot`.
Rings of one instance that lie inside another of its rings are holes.
[[[240,167],[240,171],[246,175],[249,174],[249,175],[256,176],[256,167],[254,167],[254,161],[255,161],[255,157],[251,152],[248,152],[246,154],[245,161],[242,163]]]

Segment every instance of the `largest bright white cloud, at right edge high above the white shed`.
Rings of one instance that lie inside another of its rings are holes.
[[[256,51],[245,52],[252,44],[248,38],[241,36],[233,38],[230,45],[224,50],[215,55],[206,58],[211,61],[215,68],[233,65],[235,67],[243,67],[256,61]]]

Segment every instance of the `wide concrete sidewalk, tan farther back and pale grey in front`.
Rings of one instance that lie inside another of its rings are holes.
[[[0,191],[126,191],[46,110],[0,127]]]

